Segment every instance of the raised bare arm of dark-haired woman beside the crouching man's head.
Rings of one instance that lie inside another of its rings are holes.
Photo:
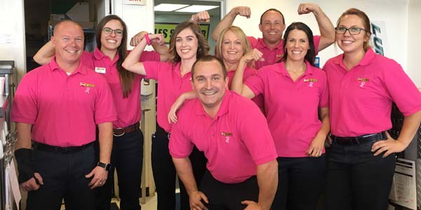
[[[243,83],[244,68],[246,68],[248,62],[253,62],[253,60],[264,61],[265,59],[263,59],[262,56],[262,52],[260,52],[258,49],[253,49],[246,55],[243,55],[243,57],[241,57],[239,66],[237,67],[234,73],[234,78],[232,78],[232,91],[241,94],[243,97],[247,97],[249,99],[253,99],[255,97],[253,91],[251,91],[250,88],[247,85],[244,85]]]

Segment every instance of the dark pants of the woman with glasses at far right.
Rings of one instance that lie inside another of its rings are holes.
[[[374,156],[371,146],[327,149],[327,210],[387,210],[396,158]]]

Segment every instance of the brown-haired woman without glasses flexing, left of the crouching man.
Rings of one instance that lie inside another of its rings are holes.
[[[169,62],[139,62],[146,45],[157,35],[145,36],[124,60],[123,66],[128,71],[158,80],[156,119],[159,126],[152,140],[152,169],[158,193],[158,209],[168,210],[175,209],[175,167],[168,150],[171,124],[168,123],[167,115],[175,99],[183,92],[192,90],[192,66],[198,57],[208,54],[209,45],[199,25],[186,21],[177,25],[171,35]],[[196,183],[200,183],[206,169],[206,158],[194,148],[190,160]],[[182,182],[179,183],[181,209],[189,209],[189,197]]]

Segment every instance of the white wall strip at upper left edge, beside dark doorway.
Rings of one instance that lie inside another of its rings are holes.
[[[0,40],[0,60],[14,60],[18,78],[26,72],[24,14],[23,0],[0,0],[0,38],[11,37],[11,43]]]

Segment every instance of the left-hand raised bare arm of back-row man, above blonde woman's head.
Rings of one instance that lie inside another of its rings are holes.
[[[213,29],[212,38],[213,40],[217,41],[221,31],[227,27],[230,27],[234,22],[236,15],[240,15],[246,18],[250,18],[251,11],[248,6],[237,6],[232,8],[227,15],[216,25],[215,29]]]

